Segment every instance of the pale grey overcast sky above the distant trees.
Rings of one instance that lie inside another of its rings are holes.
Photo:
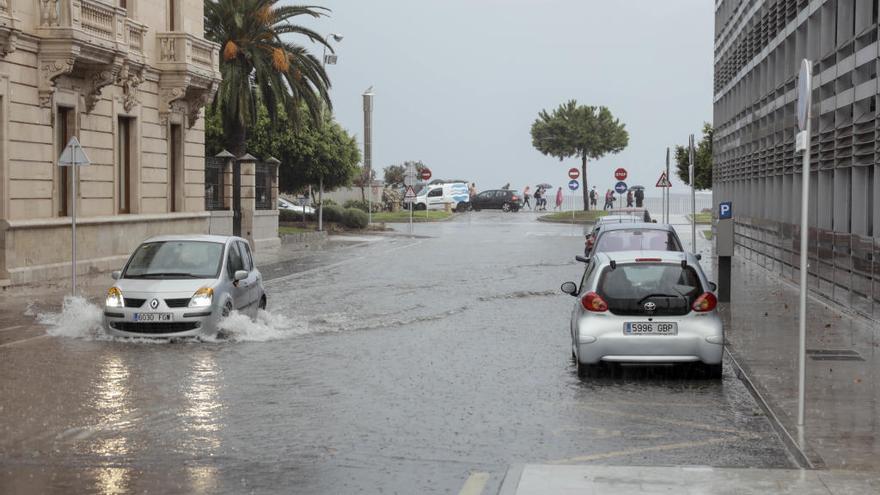
[[[300,2],[295,2],[300,3]],[[361,94],[373,86],[373,166],[422,160],[435,178],[480,190],[507,182],[565,185],[579,160],[545,157],[529,129],[541,109],[605,105],[629,146],[588,165],[613,187],[624,167],[648,194],[666,147],[712,118],[713,5],[706,0],[332,0],[340,33],[328,66],[337,120],[363,137]],[[320,58],[320,48],[315,48]],[[362,148],[363,149],[363,148]],[[674,192],[685,192],[673,178]]]

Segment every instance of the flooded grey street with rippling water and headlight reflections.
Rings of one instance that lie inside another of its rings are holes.
[[[455,494],[475,472],[495,493],[514,463],[792,467],[729,369],[578,379],[559,285],[580,278],[582,229],[484,211],[267,265],[270,314],[228,341],[0,348],[0,493]]]

